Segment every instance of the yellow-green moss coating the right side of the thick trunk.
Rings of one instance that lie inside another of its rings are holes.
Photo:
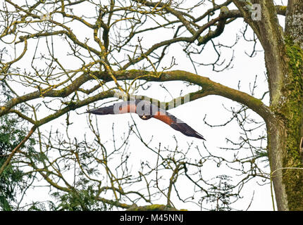
[[[283,183],[289,210],[303,210],[303,168],[299,154],[303,105],[303,51],[290,37],[285,39],[288,72],[285,75],[280,107],[276,113],[285,125],[285,150],[283,153]]]

